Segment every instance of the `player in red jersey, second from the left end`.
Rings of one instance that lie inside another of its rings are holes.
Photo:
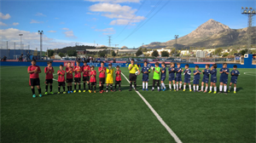
[[[52,83],[53,83],[53,72],[55,72],[54,68],[51,66],[51,62],[47,62],[47,66],[44,68],[45,75],[45,94],[48,94],[48,85],[50,94],[54,94],[52,92]]]

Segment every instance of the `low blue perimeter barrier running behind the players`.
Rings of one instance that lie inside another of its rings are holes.
[[[52,66],[60,66],[64,65],[64,62],[53,62]],[[100,63],[87,63],[89,66],[101,66]],[[128,67],[128,63],[112,63],[113,67],[120,66],[120,67]],[[143,66],[143,63],[138,63],[138,65]],[[154,64],[150,64],[151,66],[154,66]],[[185,67],[186,63],[181,64],[181,67]],[[195,67],[199,66],[200,68],[204,68],[206,64],[191,64],[189,63],[189,67]],[[256,65],[240,65],[240,64],[228,64],[228,68],[233,68],[233,66],[236,65],[237,68],[256,68]],[[1,61],[0,66],[31,66],[31,62],[18,62],[18,61]],[[37,66],[47,66],[47,62],[37,62]],[[83,63],[80,64],[80,66],[83,66]],[[104,66],[108,67],[108,63],[105,63]],[[212,64],[211,64],[212,66]],[[217,64],[218,68],[222,67],[222,64]],[[161,67],[161,66],[160,66]]]

